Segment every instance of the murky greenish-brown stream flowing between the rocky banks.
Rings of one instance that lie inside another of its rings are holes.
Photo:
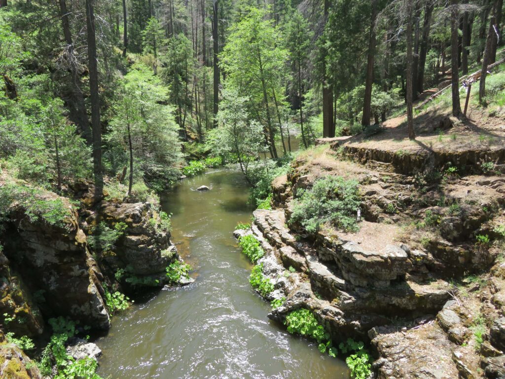
[[[211,191],[195,191],[200,185]],[[247,186],[237,171],[184,179],[162,198],[172,239],[196,281],[114,316],[98,373],[129,378],[348,378],[345,363],[321,354],[267,317],[252,291],[250,263],[232,231],[248,222]]]

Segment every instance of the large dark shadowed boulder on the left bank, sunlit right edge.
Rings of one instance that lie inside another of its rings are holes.
[[[68,215],[57,224],[30,219],[23,209],[14,209],[5,235],[5,254],[26,283],[37,294],[44,318],[67,316],[82,325],[109,327],[109,314],[100,295],[102,273],[86,247],[77,213],[66,198],[53,193],[68,207]],[[33,312],[32,312],[33,313]]]

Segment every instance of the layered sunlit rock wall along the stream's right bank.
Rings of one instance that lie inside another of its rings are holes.
[[[465,158],[467,175],[420,184],[428,174],[406,172],[411,155],[403,161],[340,144],[298,157],[272,183],[274,209],[255,211],[251,229],[235,231],[254,234],[265,251],[258,263],[274,283],[267,299],[286,299],[269,317],[283,322],[293,310],[311,310],[337,344],[370,344],[381,379],[505,377],[505,266],[495,231],[505,180],[473,174],[482,151]],[[502,149],[497,154],[502,159]],[[416,159],[425,169],[426,157]],[[431,168],[443,172],[446,158],[439,160]],[[326,225],[308,236],[288,226],[297,191],[326,175],[358,180],[358,232]],[[435,220],[429,227],[427,217]],[[477,234],[496,243],[478,244]]]

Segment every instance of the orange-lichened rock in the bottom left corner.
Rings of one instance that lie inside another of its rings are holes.
[[[0,377],[2,379],[42,379],[35,363],[17,345],[6,342],[1,331]]]

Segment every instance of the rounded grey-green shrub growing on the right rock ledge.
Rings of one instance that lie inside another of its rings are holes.
[[[324,223],[345,231],[357,231],[359,206],[356,180],[327,176],[318,179],[311,189],[294,200],[289,223],[299,222],[311,234],[315,234]]]

